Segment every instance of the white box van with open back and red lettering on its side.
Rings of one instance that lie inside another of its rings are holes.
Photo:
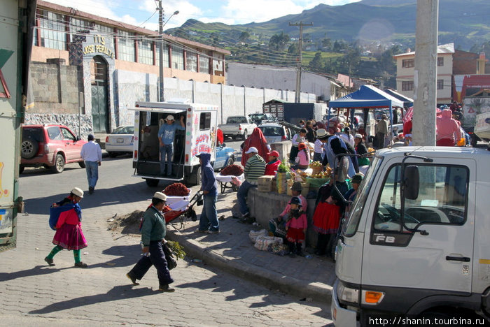
[[[196,154],[209,152],[216,159],[216,123],[218,107],[197,103],[137,102],[134,110],[134,176],[142,177],[150,187],[160,180],[200,184],[201,166]],[[160,175],[158,129],[167,115],[176,122],[184,116],[185,131],[176,131],[172,177]]]

